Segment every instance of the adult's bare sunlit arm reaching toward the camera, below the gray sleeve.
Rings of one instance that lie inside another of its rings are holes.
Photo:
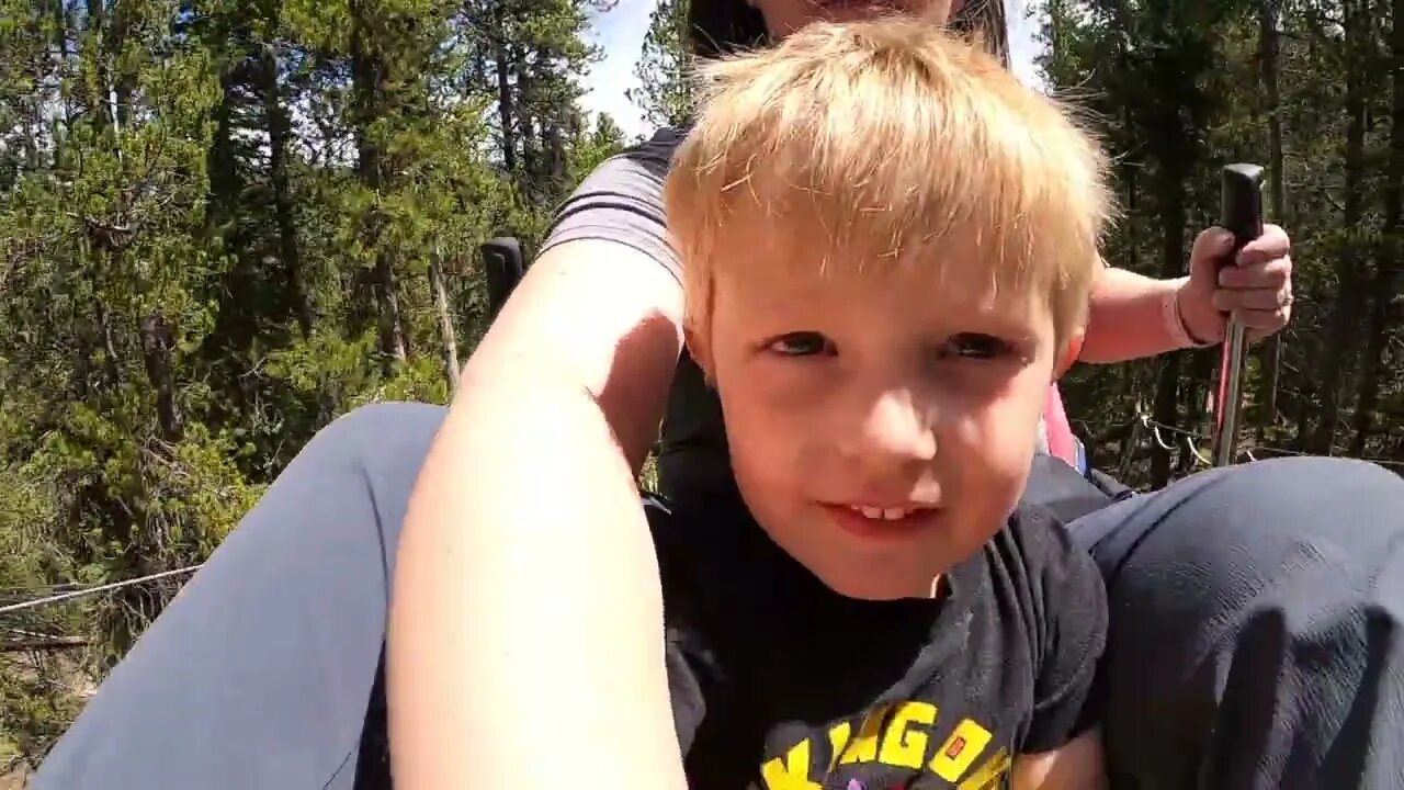
[[[685,787],[633,475],[681,312],[656,256],[587,233],[531,267],[465,365],[399,548],[396,787]]]

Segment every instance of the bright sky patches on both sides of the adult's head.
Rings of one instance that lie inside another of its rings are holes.
[[[1033,56],[1039,45],[1033,41],[1038,20],[1028,18],[1024,11],[1029,0],[1007,0],[1009,3],[1009,48],[1014,70],[1025,82],[1038,82]],[[619,0],[604,14],[597,14],[591,38],[604,49],[604,62],[595,63],[584,80],[587,90],[584,105],[591,112],[608,112],[630,138],[651,132],[643,124],[639,108],[625,91],[637,84],[633,65],[643,48],[643,35],[649,30],[649,13],[654,0]]]

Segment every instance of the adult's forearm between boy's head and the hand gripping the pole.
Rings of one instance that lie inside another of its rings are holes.
[[[1106,268],[1092,291],[1084,363],[1119,363],[1184,349],[1174,295],[1185,283],[1155,280],[1125,268]]]

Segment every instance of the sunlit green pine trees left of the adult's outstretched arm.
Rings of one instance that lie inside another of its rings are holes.
[[[198,564],[331,419],[446,402],[477,245],[622,143],[602,8],[0,0],[0,603]],[[0,616],[0,775],[178,586]]]

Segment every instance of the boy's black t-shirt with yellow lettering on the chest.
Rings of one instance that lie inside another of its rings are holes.
[[[935,600],[862,602],[743,507],[650,505],[694,790],[998,787],[1095,723],[1102,579],[1046,512],[1016,512]]]

